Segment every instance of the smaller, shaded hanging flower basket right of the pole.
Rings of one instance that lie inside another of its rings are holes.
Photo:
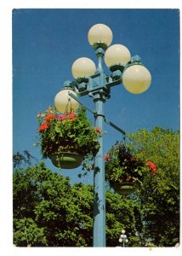
[[[118,194],[128,195],[142,182],[143,166],[124,143],[117,142],[105,155],[105,178]]]

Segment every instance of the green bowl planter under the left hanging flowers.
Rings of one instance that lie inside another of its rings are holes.
[[[54,166],[61,169],[73,169],[82,164],[84,156],[77,153],[62,152],[60,154],[49,155],[49,159]]]

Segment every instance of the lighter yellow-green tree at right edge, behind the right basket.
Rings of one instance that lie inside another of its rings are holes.
[[[179,242],[179,131],[139,130],[129,135],[129,146],[144,163],[151,162],[156,172],[146,172],[138,190],[145,230],[158,247]]]

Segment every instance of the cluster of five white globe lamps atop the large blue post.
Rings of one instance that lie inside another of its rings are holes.
[[[105,65],[113,73],[112,77],[120,77],[120,84],[123,84],[124,88],[130,93],[140,94],[145,92],[151,84],[151,73],[143,66],[138,55],[131,56],[126,46],[122,44],[111,45],[112,38],[110,27],[104,24],[96,24],[88,31],[89,44],[95,50],[96,55],[104,55]],[[103,53],[100,53],[98,49],[103,49]],[[82,81],[88,81],[90,76],[99,72],[98,69],[94,61],[87,57],[81,57],[73,62],[71,73],[77,84],[82,84]],[[64,113],[68,101],[71,102],[73,110],[78,108],[79,103],[69,96],[70,92],[75,96],[82,96],[77,86],[71,89],[69,85],[65,85],[65,90],[60,90],[54,98],[55,107],[61,113]]]

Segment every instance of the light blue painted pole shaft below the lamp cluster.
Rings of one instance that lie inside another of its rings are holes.
[[[103,131],[104,102],[95,102],[95,125]],[[103,137],[99,139],[100,150],[95,157],[94,167],[94,247],[105,247],[105,160],[103,152]]]

